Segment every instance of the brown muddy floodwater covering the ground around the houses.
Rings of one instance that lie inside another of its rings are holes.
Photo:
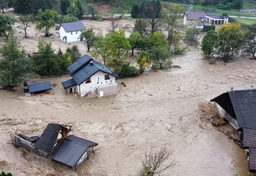
[[[105,23],[108,22],[84,21],[102,30]],[[28,39],[17,33],[30,52],[36,50],[37,39],[43,38],[43,33],[38,32],[32,33],[34,36],[28,32]],[[51,40],[55,49],[59,45],[63,50],[68,47],[59,38],[46,40]],[[83,43],[76,44],[86,53]],[[69,76],[44,76],[28,81],[50,81],[55,84],[52,94],[25,97],[22,86],[15,92],[1,90],[0,170],[20,176],[135,175],[147,149],[168,145],[174,149],[172,159],[178,161],[168,175],[252,175],[245,151],[216,131],[204,117],[212,113],[213,104],[208,103],[212,98],[231,87],[250,89],[256,85],[256,62],[239,56],[226,65],[222,61],[210,65],[199,54],[191,46],[187,54],[169,58],[181,68],[119,79],[118,94],[102,99],[66,94],[61,82]],[[40,135],[48,123],[57,122],[73,125],[73,134],[99,143],[96,153],[76,172],[57,162],[52,167],[49,160],[11,144],[12,132]]]

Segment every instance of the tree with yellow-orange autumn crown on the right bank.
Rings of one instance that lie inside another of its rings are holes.
[[[244,33],[240,23],[228,23],[222,25],[218,31],[220,44],[217,54],[223,61],[234,59],[243,46]]]

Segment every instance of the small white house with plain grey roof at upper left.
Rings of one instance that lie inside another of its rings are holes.
[[[80,34],[86,30],[84,24],[81,21],[62,23],[59,27],[60,40],[71,43],[80,41]]]

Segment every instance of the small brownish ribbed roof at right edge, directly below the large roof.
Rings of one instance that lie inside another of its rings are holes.
[[[243,148],[256,147],[256,129],[243,128]]]

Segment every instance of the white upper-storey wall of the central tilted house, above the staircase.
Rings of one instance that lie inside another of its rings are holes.
[[[81,97],[83,97],[87,92],[90,91],[90,89],[97,84],[97,77],[100,77],[100,83],[106,84],[110,83],[110,81],[114,82],[116,80],[115,76],[109,75],[110,79],[105,80],[105,75],[108,75],[107,73],[103,73],[102,71],[98,71],[95,75],[91,77],[91,83],[82,83],[80,84],[80,90],[79,85],[77,85],[77,92],[80,94]],[[99,84],[100,84],[99,83]]]

